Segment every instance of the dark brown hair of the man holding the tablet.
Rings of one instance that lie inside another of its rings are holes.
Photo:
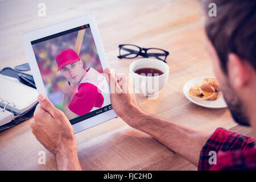
[[[217,6],[217,16],[210,17],[210,3]],[[216,49],[221,67],[227,72],[229,53],[249,61],[256,70],[256,1],[203,0],[205,31]]]

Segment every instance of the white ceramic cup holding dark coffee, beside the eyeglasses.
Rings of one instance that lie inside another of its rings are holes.
[[[135,71],[141,68],[158,69],[163,72],[163,74],[159,76],[146,76],[135,73]],[[159,90],[161,90],[168,81],[169,67],[166,63],[157,59],[138,59],[130,64],[129,78],[133,82],[135,93],[155,98],[155,96],[158,96]]]

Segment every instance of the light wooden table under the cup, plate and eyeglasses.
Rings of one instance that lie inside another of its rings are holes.
[[[137,96],[148,113],[192,128],[214,131],[225,127],[251,135],[237,126],[228,109],[207,109],[189,102],[182,88],[188,80],[212,76],[203,46],[203,18],[197,0],[50,1],[46,17],[38,16],[40,1],[0,2],[0,69],[26,63],[21,35],[36,28],[93,13],[108,56],[117,73],[128,73],[134,60],[117,58],[118,44],[158,47],[170,52],[168,84],[158,100]],[[171,132],[171,131],[170,131]],[[122,119],[112,119],[75,135],[84,170],[196,170],[193,164]],[[46,164],[38,164],[38,152],[46,151]],[[32,135],[29,121],[0,133],[0,169],[55,170],[54,156]]]

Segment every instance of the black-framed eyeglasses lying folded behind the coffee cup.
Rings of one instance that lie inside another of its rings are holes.
[[[161,61],[166,63],[166,57],[169,55],[168,51],[164,51],[159,48],[141,48],[139,46],[135,46],[133,44],[121,44],[119,47],[119,59],[133,59],[137,56],[143,57],[155,57]]]

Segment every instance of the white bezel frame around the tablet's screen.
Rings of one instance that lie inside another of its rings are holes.
[[[90,25],[90,30],[92,31],[94,43],[97,48],[98,56],[100,57],[102,69],[105,70],[109,67],[108,59],[106,57],[103,44],[101,42],[100,33],[98,32],[98,27],[93,14],[88,14],[66,20],[64,22],[52,24],[51,26],[39,28],[38,30],[26,32],[22,34],[23,47],[27,55],[28,62],[30,64],[31,72],[35,80],[36,88],[39,94],[42,93],[47,96],[46,88],[43,84],[43,79],[40,74],[38,63],[36,62],[35,53],[33,51],[31,42],[33,40],[38,40],[49,35],[57,34],[66,30],[71,30],[72,28],[80,27],[84,24]],[[114,110],[108,110],[104,113],[95,115],[94,117],[85,119],[84,121],[73,124],[74,133],[79,133],[80,131],[89,129],[90,127],[99,125],[100,123],[106,122],[110,119],[117,117]]]

